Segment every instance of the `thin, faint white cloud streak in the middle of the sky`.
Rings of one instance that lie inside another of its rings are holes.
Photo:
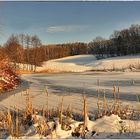
[[[50,26],[47,28],[48,33],[59,33],[59,32],[75,32],[75,31],[84,31],[87,29],[87,25],[59,25],[59,26]]]

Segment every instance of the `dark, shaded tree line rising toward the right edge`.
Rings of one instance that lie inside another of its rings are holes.
[[[88,44],[88,49],[98,58],[140,53],[140,25],[114,31],[109,39],[96,37]]]

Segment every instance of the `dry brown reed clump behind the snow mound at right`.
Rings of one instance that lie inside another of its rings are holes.
[[[103,100],[102,100],[102,109],[101,109],[101,99],[99,94],[99,86],[98,86],[98,101],[97,101],[97,111],[95,111],[94,116],[95,120],[101,118],[103,116],[110,116],[112,114],[118,115],[121,119],[134,119],[136,118],[136,112],[130,110],[129,106],[123,107],[120,102],[120,85],[116,87],[116,84],[113,85],[113,105],[109,106],[106,101],[105,90],[103,92]],[[138,113],[139,114],[139,113]],[[135,116],[135,117],[134,117]],[[137,116],[138,118],[138,116]]]

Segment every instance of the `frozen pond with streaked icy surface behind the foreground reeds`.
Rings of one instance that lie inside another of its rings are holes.
[[[140,96],[139,72],[84,72],[84,73],[57,73],[57,74],[26,74],[22,75],[26,82],[19,89],[11,92],[9,96],[2,95],[1,107],[7,107],[10,101],[11,107],[24,108],[28,86],[31,89],[33,106],[43,108],[46,105],[47,96],[45,86],[48,87],[49,107],[56,107],[64,98],[64,107],[72,106],[75,110],[82,110],[82,94],[87,97],[89,111],[97,109],[97,89],[102,97],[105,93],[108,105],[113,104],[113,85],[120,87],[120,99],[124,105],[132,109],[138,109],[138,96]],[[98,82],[99,81],[99,87]],[[116,89],[117,90],[117,89]],[[15,94],[16,93],[16,94]],[[5,97],[6,96],[6,97]]]

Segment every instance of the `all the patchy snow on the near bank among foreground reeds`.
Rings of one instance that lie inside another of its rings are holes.
[[[70,130],[64,130],[61,128],[61,124],[59,124],[58,118],[55,122],[46,122],[46,124],[50,124],[48,131],[50,133],[45,136],[41,136],[37,133],[37,125],[32,125],[28,128],[27,132],[23,133],[23,136],[20,138],[27,139],[45,139],[45,138],[55,138],[55,139],[79,139],[82,138],[81,132],[80,136],[74,136],[72,133],[75,133],[75,130],[81,125],[83,122],[78,122],[71,120],[70,125],[73,124],[73,128]],[[56,129],[53,128],[53,123],[56,124]],[[88,131],[85,134],[85,139],[105,139],[105,138],[140,138],[140,121],[132,121],[132,120],[122,120],[117,115],[112,114],[111,116],[103,116],[102,118],[97,119],[96,121],[88,120],[87,122]],[[82,127],[81,127],[82,129]],[[4,135],[4,134],[3,134]],[[9,136],[9,138],[12,138]]]

